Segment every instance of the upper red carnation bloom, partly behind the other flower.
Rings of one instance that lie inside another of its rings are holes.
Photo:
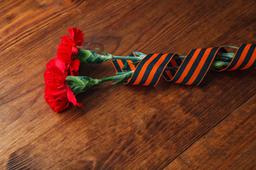
[[[63,39],[58,45],[57,57],[58,59],[65,62],[67,67],[70,69],[70,74],[78,76],[78,69],[80,65],[80,60],[75,58],[74,54],[78,54],[78,47],[81,46],[84,34],[82,30],[78,28],[70,28],[68,29],[69,35],[64,35],[60,39]]]

